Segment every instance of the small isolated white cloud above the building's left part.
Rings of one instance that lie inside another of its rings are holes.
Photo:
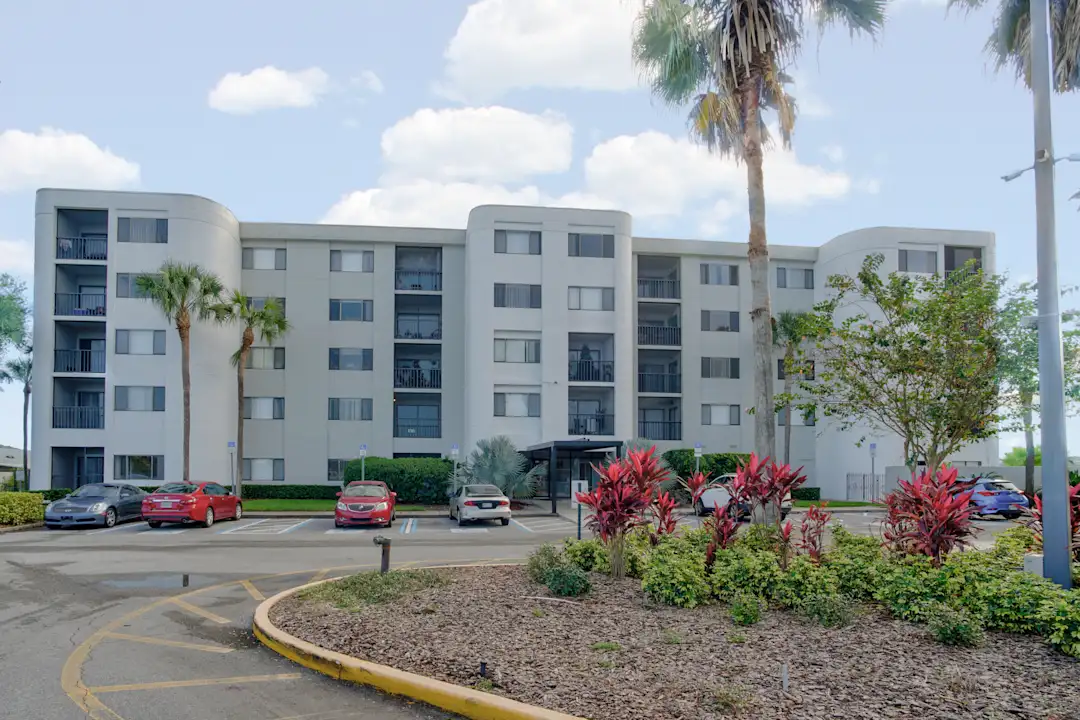
[[[321,68],[279,70],[268,65],[247,74],[230,72],[210,91],[210,107],[230,114],[252,114],[276,108],[308,108],[330,89]]]

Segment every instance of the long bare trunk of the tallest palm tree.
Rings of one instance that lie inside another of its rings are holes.
[[[746,122],[743,157],[750,203],[750,317],[754,331],[754,449],[762,457],[774,458],[777,413],[772,400],[772,309],[769,302],[769,245],[765,234],[765,172],[761,167],[758,85],[756,76],[752,74],[742,93]],[[769,519],[767,517],[766,521]]]

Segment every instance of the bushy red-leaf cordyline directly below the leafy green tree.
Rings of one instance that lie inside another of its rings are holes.
[[[927,471],[886,495],[885,540],[908,555],[926,555],[935,567],[975,532],[971,484],[957,480],[955,467]]]

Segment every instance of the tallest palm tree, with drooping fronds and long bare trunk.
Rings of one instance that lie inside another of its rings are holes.
[[[771,408],[772,328],[769,248],[765,232],[762,152],[770,137],[764,111],[779,120],[784,146],[795,126],[795,101],[784,84],[798,57],[805,18],[874,36],[886,0],[647,0],[638,15],[633,59],[652,93],[676,107],[690,105],[693,139],[746,163],[750,209],[747,257],[754,330],[755,407]],[[754,444],[775,453],[772,412],[754,413]]]

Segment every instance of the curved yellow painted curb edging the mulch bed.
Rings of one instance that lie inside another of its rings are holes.
[[[444,566],[447,567],[447,566]],[[453,566],[449,566],[453,567]],[[476,566],[461,566],[476,567]],[[484,566],[490,567],[490,566]],[[490,693],[443,682],[422,675],[405,673],[387,665],[343,655],[326,650],[279,629],[270,622],[270,610],[296,593],[315,585],[339,580],[332,578],[287,589],[274,595],[255,610],[252,629],[259,642],[274,652],[307,668],[328,675],[336,680],[348,680],[369,685],[391,695],[401,695],[473,720],[582,720],[572,715],[556,712],[534,705],[501,697]]]

